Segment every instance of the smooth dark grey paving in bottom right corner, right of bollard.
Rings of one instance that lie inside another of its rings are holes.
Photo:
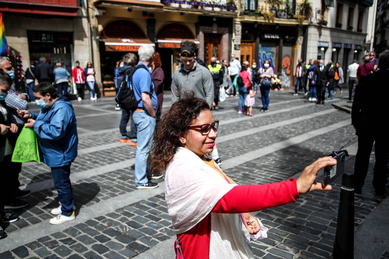
[[[389,199],[384,199],[354,230],[354,255],[380,258],[389,246]],[[358,256],[357,256],[358,257]]]

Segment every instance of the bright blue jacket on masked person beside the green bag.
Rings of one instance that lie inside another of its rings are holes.
[[[31,113],[43,162],[49,167],[68,165],[77,157],[77,121],[72,104],[60,96],[51,109]]]

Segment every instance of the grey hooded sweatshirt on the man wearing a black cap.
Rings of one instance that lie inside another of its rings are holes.
[[[180,69],[174,72],[172,78],[172,103],[179,99],[179,91],[182,89],[193,90],[198,97],[207,101],[209,107],[212,107],[215,90],[214,81],[208,68],[196,62],[195,67],[187,72],[184,70],[184,65],[181,64]]]

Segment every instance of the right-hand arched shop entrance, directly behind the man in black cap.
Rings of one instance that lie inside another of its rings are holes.
[[[158,42],[156,51],[161,55],[162,69],[165,72],[165,89],[170,88],[173,73],[179,69],[179,50],[184,40],[199,43],[193,32],[181,23],[167,23],[156,34],[156,42]]]

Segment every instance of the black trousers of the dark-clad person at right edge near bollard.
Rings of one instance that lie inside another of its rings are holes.
[[[373,175],[373,186],[377,189],[385,188],[387,183],[387,163],[389,155],[388,137],[377,136],[380,134],[359,133],[358,151],[355,157],[354,166],[354,188],[360,189],[364,185],[369,169],[371,149],[375,141],[375,166]]]

